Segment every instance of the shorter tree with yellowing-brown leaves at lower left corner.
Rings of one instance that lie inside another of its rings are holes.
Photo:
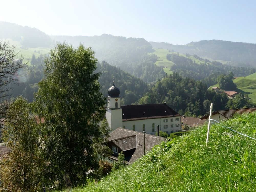
[[[39,125],[22,97],[10,105],[3,132],[4,142],[12,151],[0,157],[0,191],[37,191],[41,189]],[[13,116],[12,114],[16,114]]]

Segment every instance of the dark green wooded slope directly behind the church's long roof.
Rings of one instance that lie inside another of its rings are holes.
[[[235,106],[230,103],[225,93],[217,93],[208,89],[205,83],[183,78],[178,73],[159,80],[136,104],[163,102],[185,116],[200,116],[209,113],[210,103],[214,103],[214,110],[232,109]],[[255,104],[249,98],[245,98],[238,107],[254,106]]]

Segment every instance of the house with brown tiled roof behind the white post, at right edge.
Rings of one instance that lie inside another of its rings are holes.
[[[251,113],[255,112],[256,108],[243,108],[243,109],[229,109],[229,110],[220,110],[220,111],[215,111],[212,113],[211,118],[216,120],[216,121],[221,121],[225,119],[230,119],[233,118],[234,115],[236,114],[244,114],[244,113]],[[209,114],[201,117],[200,119],[209,119]]]

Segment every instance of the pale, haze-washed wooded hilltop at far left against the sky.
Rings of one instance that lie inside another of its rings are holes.
[[[0,39],[20,41],[24,48],[50,47],[53,42],[49,35],[36,28],[0,21]]]

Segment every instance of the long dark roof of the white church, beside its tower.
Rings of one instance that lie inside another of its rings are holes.
[[[164,103],[124,105],[121,108],[123,110],[123,121],[181,116]]]

